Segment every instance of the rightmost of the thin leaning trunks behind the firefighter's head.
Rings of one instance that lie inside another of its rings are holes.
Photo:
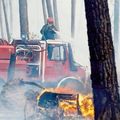
[[[54,19],[55,19],[55,27],[59,30],[59,22],[58,22],[58,11],[57,11],[57,1],[53,0],[53,11],[54,11]]]

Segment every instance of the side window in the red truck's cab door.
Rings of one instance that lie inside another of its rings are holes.
[[[55,61],[65,60],[64,45],[48,45],[48,59]]]

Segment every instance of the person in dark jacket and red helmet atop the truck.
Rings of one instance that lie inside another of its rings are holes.
[[[42,34],[41,40],[48,40],[48,39],[55,39],[57,37],[57,29],[54,26],[54,20],[53,18],[47,19],[47,24],[45,24],[42,29],[40,30],[40,33]]]

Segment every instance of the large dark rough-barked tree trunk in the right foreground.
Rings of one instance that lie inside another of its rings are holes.
[[[95,120],[120,120],[120,98],[107,0],[85,0]]]

